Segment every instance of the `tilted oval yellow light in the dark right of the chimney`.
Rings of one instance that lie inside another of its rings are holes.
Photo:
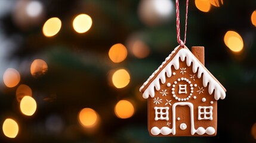
[[[243,49],[243,39],[235,31],[228,31],[224,36],[224,43],[232,52],[239,53]]]

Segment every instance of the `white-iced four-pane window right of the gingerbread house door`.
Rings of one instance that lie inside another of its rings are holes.
[[[198,107],[198,120],[212,120],[212,106]]]

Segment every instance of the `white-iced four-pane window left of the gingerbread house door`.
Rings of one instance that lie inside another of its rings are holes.
[[[169,120],[169,107],[154,107],[155,120]]]

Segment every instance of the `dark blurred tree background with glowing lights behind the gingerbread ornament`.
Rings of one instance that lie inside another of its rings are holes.
[[[255,26],[255,0],[189,1],[227,97],[217,136],[156,138],[138,89],[178,45],[174,0],[0,0],[0,142],[256,142]]]

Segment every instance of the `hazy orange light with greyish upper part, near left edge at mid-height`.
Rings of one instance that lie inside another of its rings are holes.
[[[4,84],[8,88],[13,88],[20,82],[20,73],[16,69],[8,68],[3,76]]]

